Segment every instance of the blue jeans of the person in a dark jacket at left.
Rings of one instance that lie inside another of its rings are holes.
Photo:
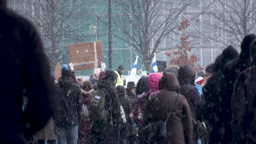
[[[78,125],[73,127],[56,127],[57,144],[77,144]]]

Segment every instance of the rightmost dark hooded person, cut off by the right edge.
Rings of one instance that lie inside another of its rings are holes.
[[[256,143],[256,40],[250,50],[252,67],[238,75],[231,99],[231,128],[237,144]]]

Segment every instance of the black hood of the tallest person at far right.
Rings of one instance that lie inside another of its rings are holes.
[[[256,39],[255,34],[248,34],[243,38],[243,41],[241,43],[241,53],[240,57],[249,58],[250,57],[250,45],[253,40]]]

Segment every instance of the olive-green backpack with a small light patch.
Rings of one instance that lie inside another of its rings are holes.
[[[89,95],[89,117],[92,121],[101,121],[107,117],[105,110],[106,91],[104,89],[96,90]]]

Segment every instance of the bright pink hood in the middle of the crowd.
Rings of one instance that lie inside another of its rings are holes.
[[[159,73],[153,73],[149,75],[148,85],[150,91],[158,92],[158,83],[161,77],[162,74]]]

